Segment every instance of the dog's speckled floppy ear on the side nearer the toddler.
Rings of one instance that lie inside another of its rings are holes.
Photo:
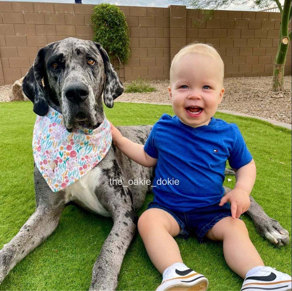
[[[106,51],[99,43],[95,44],[103,58],[104,72],[106,74],[105,87],[103,90],[103,101],[104,104],[106,104],[106,107],[112,108],[114,99],[119,97],[124,91],[123,84],[117,76],[113,66],[109,62],[109,56]]]

